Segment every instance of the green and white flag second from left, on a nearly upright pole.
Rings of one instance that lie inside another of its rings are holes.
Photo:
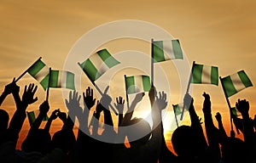
[[[75,90],[73,72],[67,70],[50,70],[49,87],[61,87]]]

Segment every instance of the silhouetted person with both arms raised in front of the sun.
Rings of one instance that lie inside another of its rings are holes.
[[[137,94],[125,114],[122,127],[119,128],[117,142],[122,140],[124,143],[115,144],[114,162],[156,163],[158,161],[162,142],[161,109],[155,103],[157,95],[154,87],[151,87],[148,96],[151,104],[152,128],[143,118],[131,119],[136,104],[143,98],[141,94]],[[130,148],[125,146],[125,136],[130,143]]]

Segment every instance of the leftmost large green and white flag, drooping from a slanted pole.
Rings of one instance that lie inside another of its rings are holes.
[[[33,65],[31,65],[26,72],[41,84],[44,91],[47,89],[49,81],[49,67],[45,65],[41,59],[38,59]]]

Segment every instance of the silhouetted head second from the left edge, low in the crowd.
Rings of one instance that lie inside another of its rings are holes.
[[[47,154],[51,149],[50,134],[44,129],[38,129],[27,135],[25,141],[21,144],[21,149],[26,152],[40,152]]]

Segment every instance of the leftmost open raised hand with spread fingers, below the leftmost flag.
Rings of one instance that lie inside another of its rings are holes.
[[[24,104],[33,104],[38,100],[38,97],[34,98],[34,95],[38,89],[38,86],[35,86],[33,83],[30,83],[29,86],[27,85],[24,88],[24,93],[22,95],[22,102]]]

